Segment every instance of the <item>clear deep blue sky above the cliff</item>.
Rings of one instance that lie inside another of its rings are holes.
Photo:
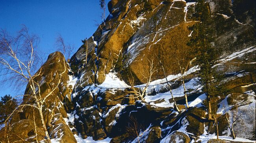
[[[106,5],[109,1],[106,0]],[[15,34],[22,24],[26,25],[40,37],[39,49],[47,58],[56,51],[54,43],[58,34],[77,50],[81,40],[96,31],[95,20],[101,22],[101,13],[99,0],[0,0],[0,28]],[[23,94],[24,88],[15,91],[8,83],[0,83],[0,96]]]

